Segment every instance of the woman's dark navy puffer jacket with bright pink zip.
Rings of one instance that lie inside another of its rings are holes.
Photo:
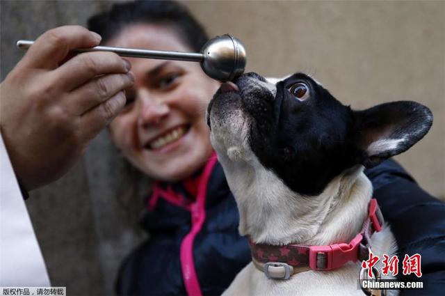
[[[392,160],[365,173],[399,254],[422,256],[427,289],[401,295],[444,295],[445,204]],[[248,242],[238,235],[236,203],[216,159],[191,180],[156,185],[147,208],[142,224],[151,238],[124,261],[118,295],[220,295],[250,262]]]

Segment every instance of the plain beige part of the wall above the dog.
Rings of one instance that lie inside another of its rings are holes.
[[[444,1],[186,1],[210,36],[231,33],[248,71],[307,72],[362,109],[393,100],[430,107],[427,136],[396,157],[445,198]]]

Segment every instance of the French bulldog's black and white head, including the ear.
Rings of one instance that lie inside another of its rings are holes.
[[[221,86],[207,116],[225,169],[255,159],[302,196],[321,194],[350,167],[402,153],[432,124],[430,110],[416,102],[353,111],[302,73],[276,83],[242,75]]]

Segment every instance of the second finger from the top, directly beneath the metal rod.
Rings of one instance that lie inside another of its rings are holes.
[[[85,52],[78,54],[54,70],[54,77],[60,77],[58,85],[65,91],[73,91],[97,75],[127,73],[129,61],[113,52]]]

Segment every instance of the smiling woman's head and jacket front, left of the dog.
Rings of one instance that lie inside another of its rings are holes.
[[[207,41],[188,11],[171,1],[118,4],[88,26],[114,47],[191,52]],[[143,216],[150,240],[122,265],[118,294],[221,294],[250,256],[205,119],[220,82],[198,63],[128,61],[135,81],[109,130],[122,155],[156,182]]]

